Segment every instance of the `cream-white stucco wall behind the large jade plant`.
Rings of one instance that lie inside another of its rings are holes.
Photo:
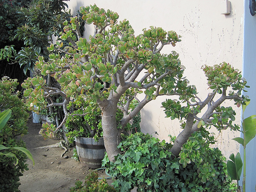
[[[186,67],[185,76],[191,84],[195,84],[201,99],[205,99],[207,93],[207,81],[201,66],[214,65],[222,61],[232,63],[235,68],[242,70],[243,50],[243,2],[231,0],[231,13],[221,15],[223,0],[70,0],[69,8],[73,13],[79,6],[96,4],[100,8],[110,9],[119,14],[119,20],[127,19],[132,25],[135,35],[142,33],[143,28],[149,26],[162,27],[164,30],[174,30],[182,36],[181,42],[174,48],[166,46],[162,53],[170,53],[172,50],[180,53],[180,60]],[[87,28],[86,36],[92,34],[92,28]],[[166,119],[161,102],[164,97],[158,97],[148,103],[141,111],[143,132],[158,132],[160,139],[169,140],[168,135],[177,135],[181,129],[179,121]],[[232,106],[233,103],[230,103]],[[240,112],[237,110],[237,123]],[[153,110],[152,110],[153,109]],[[214,131],[210,130],[211,132]],[[238,145],[231,140],[239,133],[228,130],[216,137],[219,147],[225,156],[238,151]]]

